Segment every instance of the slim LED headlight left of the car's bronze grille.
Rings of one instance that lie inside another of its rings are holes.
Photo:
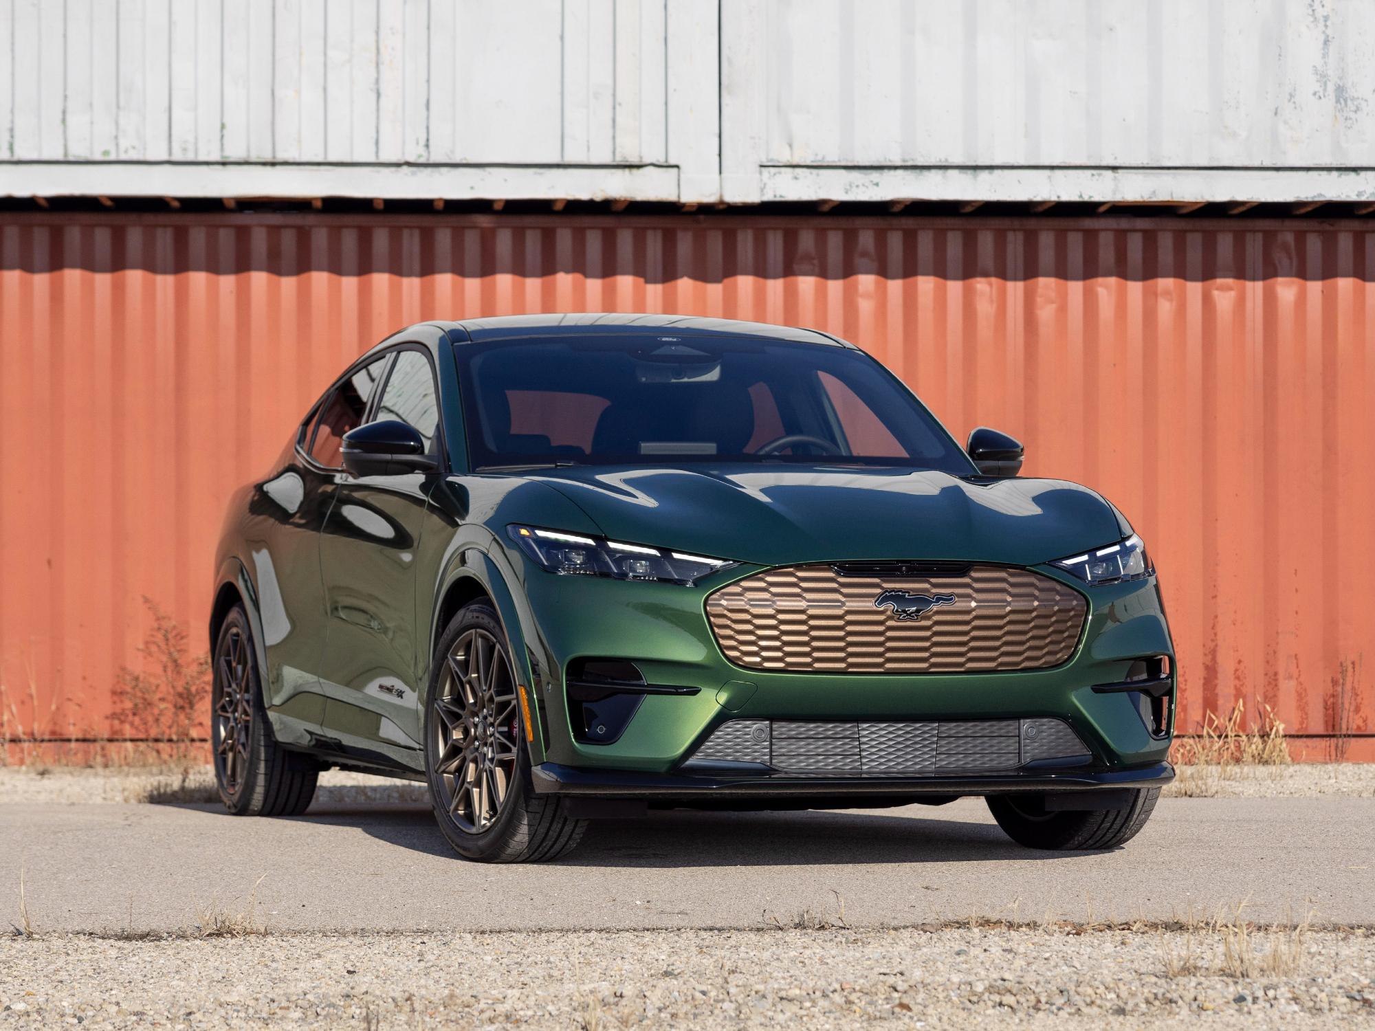
[[[740,565],[720,558],[518,524],[512,524],[506,532],[520,544],[521,551],[551,573],[692,586],[707,573]]]

